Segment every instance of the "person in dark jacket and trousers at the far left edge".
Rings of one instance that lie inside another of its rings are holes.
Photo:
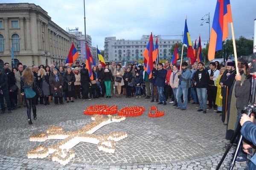
[[[0,70],[0,105],[2,108],[2,112],[1,112],[2,114],[5,113],[3,97],[6,99],[8,113],[12,113],[12,107],[11,107],[9,90],[8,90],[7,74],[1,73],[1,70]]]

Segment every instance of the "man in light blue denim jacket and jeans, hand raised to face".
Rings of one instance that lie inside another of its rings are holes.
[[[181,64],[181,70],[178,72],[179,87],[177,89],[177,103],[176,109],[186,110],[188,104],[188,89],[190,87],[191,71],[188,68],[188,63],[183,62]],[[181,96],[183,94],[183,105],[181,103]]]

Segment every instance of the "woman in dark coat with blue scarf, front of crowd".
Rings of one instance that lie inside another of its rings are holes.
[[[51,72],[49,84],[51,86],[51,93],[54,93],[55,91],[62,93],[63,78],[56,68],[54,68]],[[63,104],[62,96],[54,97],[55,105],[58,105],[58,102],[60,102],[60,104]]]

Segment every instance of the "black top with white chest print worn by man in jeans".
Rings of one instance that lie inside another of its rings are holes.
[[[201,79],[199,79],[200,77]],[[196,82],[196,88],[207,88],[209,78],[208,71],[204,69],[202,71],[197,70],[192,79]]]

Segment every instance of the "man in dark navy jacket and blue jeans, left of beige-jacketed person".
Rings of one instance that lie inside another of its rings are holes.
[[[159,103],[157,103],[157,104],[166,105],[166,98],[163,94],[163,88],[165,86],[165,79],[166,79],[167,70],[163,69],[163,64],[162,63],[159,63],[157,65],[157,67],[158,67],[158,71],[157,71],[157,79],[156,79],[156,82],[155,82],[155,86],[157,86],[157,91],[158,91],[159,100],[160,100]]]

